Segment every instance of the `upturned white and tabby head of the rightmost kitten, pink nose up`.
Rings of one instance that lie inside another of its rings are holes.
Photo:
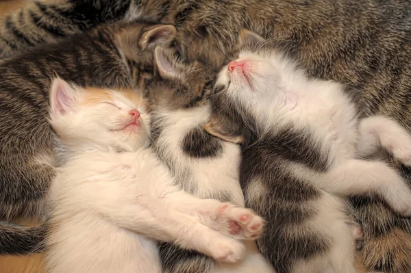
[[[264,133],[274,117],[295,106],[290,91],[295,64],[272,44],[242,29],[239,57],[221,69],[214,86],[214,113],[206,131],[240,143]],[[298,73],[297,73],[298,74]]]

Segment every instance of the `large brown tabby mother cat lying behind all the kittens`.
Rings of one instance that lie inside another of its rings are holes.
[[[363,116],[384,114],[411,129],[411,2],[407,0],[49,0],[3,18],[0,57],[53,42],[101,22],[148,18],[179,29],[182,55],[218,68],[240,27],[273,38],[308,73],[353,87]],[[405,177],[410,170],[399,166]],[[408,179],[410,181],[410,179]],[[353,198],[365,233],[369,269],[408,272],[411,221],[381,200]]]

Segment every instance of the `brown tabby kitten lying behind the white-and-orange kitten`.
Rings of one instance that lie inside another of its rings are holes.
[[[153,69],[153,45],[168,44],[175,31],[148,23],[100,27],[0,66],[0,219],[42,213],[53,171],[37,159],[45,160],[53,149],[47,122],[53,76],[80,86],[139,86]]]

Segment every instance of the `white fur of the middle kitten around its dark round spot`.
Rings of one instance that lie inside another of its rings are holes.
[[[183,190],[200,198],[208,197],[218,192],[232,194],[232,202],[244,207],[244,196],[238,183],[238,166],[240,163],[240,147],[229,142],[223,144],[223,154],[219,157],[192,158],[182,151],[182,141],[190,129],[203,126],[210,118],[210,105],[203,105],[192,109],[168,110],[160,109],[156,115],[162,120],[163,134],[157,140],[157,146],[164,149],[162,153],[168,155],[175,167],[175,177],[184,177]],[[192,176],[187,176],[188,170]],[[183,185],[181,185],[183,186]],[[216,272],[221,273],[249,273],[274,272],[273,268],[258,251],[254,242],[247,242],[247,256],[237,263],[218,263]]]

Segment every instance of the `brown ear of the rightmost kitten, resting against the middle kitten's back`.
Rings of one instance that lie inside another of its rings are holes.
[[[228,118],[219,114],[212,114],[204,130],[210,135],[221,138],[227,142],[241,144],[244,142],[244,135],[242,135],[240,128],[236,127]]]

